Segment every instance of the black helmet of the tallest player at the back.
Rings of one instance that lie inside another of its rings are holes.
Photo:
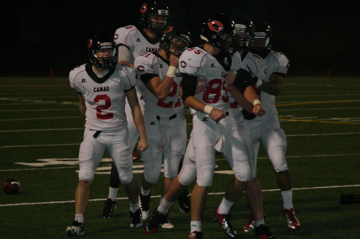
[[[149,16],[163,17],[164,22],[150,20]],[[166,3],[161,0],[145,0],[145,3],[140,7],[140,24],[144,28],[150,28],[154,33],[162,34],[165,29],[170,26],[170,20],[171,15],[169,8]]]

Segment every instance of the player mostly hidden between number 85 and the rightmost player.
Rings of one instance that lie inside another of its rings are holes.
[[[254,24],[251,19],[244,16],[239,16],[235,22],[235,28],[239,35],[239,53],[241,55],[241,68],[244,70],[250,71],[257,80],[256,84],[261,84],[262,80],[265,80],[266,76],[266,64],[264,59],[260,56],[249,51],[249,44],[252,41],[252,37],[254,34]],[[229,72],[227,78],[235,77],[233,72]],[[255,86],[253,86],[255,87]],[[257,90],[257,88],[255,88]],[[254,148],[252,145],[252,140],[250,136],[250,129],[247,126],[247,123],[244,118],[251,120],[256,116],[252,113],[249,113],[248,110],[243,109],[237,102],[235,102],[234,98],[229,95],[229,101],[231,109],[233,110],[235,120],[239,127],[240,135],[246,141],[246,145],[248,146],[249,154],[252,159],[254,159]],[[246,106],[247,102],[244,102]],[[255,165],[256,170],[256,165]],[[243,227],[243,231],[252,231],[256,228],[255,233],[257,235],[266,235],[267,238],[271,238],[271,234],[267,234],[269,229],[266,229],[265,221],[264,221],[264,211],[262,207],[262,193],[261,186],[256,177],[253,177],[252,180],[247,184],[246,187],[246,196],[247,201],[251,203],[251,208],[253,209],[253,214],[249,216],[249,221],[246,226]],[[264,232],[265,230],[265,232]],[[265,236],[263,236],[265,238]]]

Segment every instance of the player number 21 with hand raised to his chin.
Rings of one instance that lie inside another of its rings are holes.
[[[157,183],[164,158],[162,197],[176,177],[185,153],[186,120],[180,98],[179,56],[191,43],[184,27],[168,27],[160,41],[158,53],[143,53],[135,58],[134,69],[140,78],[144,97],[144,120],[150,148],[142,154],[145,170],[141,175],[140,208],[143,218],[149,216],[150,187]],[[142,192],[147,193],[147,197]],[[162,228],[173,228],[167,215]]]

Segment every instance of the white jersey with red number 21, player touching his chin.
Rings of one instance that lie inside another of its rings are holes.
[[[175,71],[175,78],[172,83],[172,88],[166,100],[158,99],[145,86],[150,79],[159,76],[161,80],[165,79],[170,61],[164,60],[157,53],[143,53],[136,57],[134,62],[134,69],[136,75],[141,79],[140,89],[143,93],[144,114],[156,114],[158,116],[172,116],[173,114],[183,114],[184,104],[182,99],[179,99],[179,90],[181,87],[182,77],[179,69]]]

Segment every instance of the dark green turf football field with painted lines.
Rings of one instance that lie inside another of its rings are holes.
[[[287,229],[274,170],[260,146],[257,175],[272,233],[283,239],[360,238],[360,204],[338,204],[343,193],[360,194],[360,78],[287,77],[276,104],[287,135],[293,204],[301,228]],[[75,213],[83,135],[77,94],[66,78],[0,78],[0,106],[0,181],[15,178],[21,183],[17,195],[0,192],[0,238],[66,238]],[[186,118],[190,135],[189,110]],[[143,228],[130,228],[122,187],[113,217],[100,219],[108,196],[108,158],[105,153],[90,189],[84,238],[187,238],[190,215],[180,214],[177,203],[169,213],[174,229],[145,235]],[[221,154],[216,164],[216,171],[230,170]],[[134,167],[139,181],[143,166]],[[232,178],[215,173],[202,223],[206,239],[226,238],[211,213]],[[158,205],[160,186],[151,192],[150,210]],[[238,238],[255,238],[253,232],[241,231],[249,213],[243,195],[231,210]]]

